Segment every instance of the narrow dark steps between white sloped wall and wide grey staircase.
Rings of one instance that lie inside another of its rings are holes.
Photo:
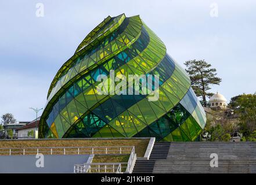
[[[136,160],[132,173],[153,173],[156,160],[165,159],[168,156],[170,142],[154,143],[149,160]]]

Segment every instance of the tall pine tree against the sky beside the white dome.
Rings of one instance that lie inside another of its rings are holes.
[[[211,90],[210,85],[219,85],[221,78],[217,77],[216,69],[211,68],[211,64],[204,60],[190,60],[184,64],[186,65],[186,72],[190,76],[194,92],[203,99],[203,106],[206,106],[206,97],[213,95],[211,92],[208,92]]]

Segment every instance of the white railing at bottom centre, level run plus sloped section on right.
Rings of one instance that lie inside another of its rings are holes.
[[[74,173],[131,173],[136,162],[135,147],[132,147],[128,162],[75,164]]]

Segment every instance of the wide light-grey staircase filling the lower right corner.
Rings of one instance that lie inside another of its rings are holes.
[[[218,168],[210,166],[218,154]],[[256,142],[172,142],[153,173],[256,173]]]

